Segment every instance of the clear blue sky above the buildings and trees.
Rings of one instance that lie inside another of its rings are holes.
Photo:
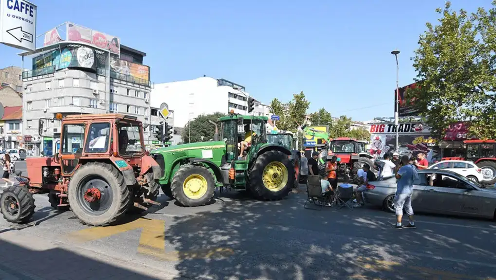
[[[71,21],[118,36],[147,53],[152,82],[205,74],[242,84],[263,103],[288,101],[303,90],[309,113],[324,107],[358,121],[393,116],[390,52],[401,51],[400,86],[411,83],[418,37],[444,6],[444,0],[32,2],[37,35]],[[491,6],[491,0],[451,3],[468,11]],[[17,53],[0,45],[0,68],[20,66]]]

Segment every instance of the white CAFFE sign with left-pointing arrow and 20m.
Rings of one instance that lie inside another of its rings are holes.
[[[0,0],[0,43],[34,51],[36,10],[36,5],[26,0]]]

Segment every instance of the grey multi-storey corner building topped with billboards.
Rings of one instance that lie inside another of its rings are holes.
[[[150,68],[142,64],[146,53],[96,30],[70,22],[61,26],[40,36],[45,38],[42,48],[20,54],[23,65],[31,67],[22,73],[24,138],[30,145],[43,142],[44,154],[51,155],[60,143],[57,113],[124,113],[143,122],[144,141],[151,142]],[[38,137],[39,119],[44,120],[43,137]]]

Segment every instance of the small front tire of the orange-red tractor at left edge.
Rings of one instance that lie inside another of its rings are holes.
[[[15,210],[10,210],[14,203]],[[0,212],[3,218],[11,223],[26,223],[34,214],[35,204],[33,195],[28,188],[22,186],[10,186],[1,193]]]

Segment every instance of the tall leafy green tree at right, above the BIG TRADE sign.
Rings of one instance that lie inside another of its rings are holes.
[[[496,1],[493,2],[493,5]],[[436,12],[439,25],[427,23],[412,58],[418,87],[406,92],[431,127],[442,137],[457,121],[471,121],[472,135],[496,135],[496,10],[479,8],[469,16],[450,9],[450,2]]]

